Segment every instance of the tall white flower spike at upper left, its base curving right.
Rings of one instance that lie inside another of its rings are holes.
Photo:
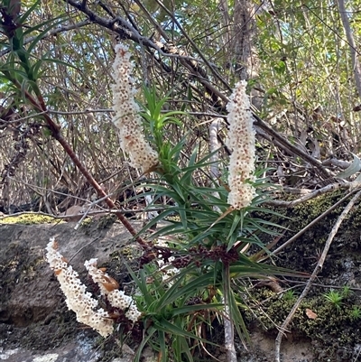
[[[140,109],[134,101],[131,53],[122,44],[117,44],[115,51],[112,76],[116,83],[112,90],[116,116],[113,123],[119,129],[120,146],[129,153],[131,164],[147,172],[158,163],[158,154],[144,139]]]

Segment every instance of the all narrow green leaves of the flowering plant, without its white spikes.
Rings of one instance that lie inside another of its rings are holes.
[[[176,113],[162,113],[166,98],[156,100],[154,88],[146,90],[145,98],[149,106],[143,111],[145,125],[159,152],[158,179],[147,184],[152,190],[146,194],[154,198],[148,208],[156,209],[156,201],[163,197],[174,204],[162,205],[158,216],[139,232],[142,235],[166,220],[166,226],[152,234],[155,246],[152,253],[143,255],[143,270],[131,273],[141,292],[138,307],[144,326],[152,326],[147,329],[148,342],[164,361],[191,361],[194,346],[209,343],[199,329],[211,330],[210,320],[222,319],[225,303],[239,338],[247,339],[241,313],[247,307],[233,281],[290,272],[259,264],[245,254],[250,245],[264,247],[259,233],[278,235],[280,229],[272,221],[255,217],[261,210],[274,214],[262,207],[269,200],[267,181],[255,181],[258,195],[249,207],[230,209],[227,185],[218,185],[209,175],[211,154],[183,153],[184,137],[178,144],[168,141],[167,126],[180,127]],[[203,186],[199,186],[200,179]],[[171,241],[157,246],[159,240]]]

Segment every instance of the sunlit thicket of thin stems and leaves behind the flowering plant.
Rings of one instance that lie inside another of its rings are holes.
[[[256,122],[260,159],[277,167],[274,181],[317,184],[315,173],[327,176],[310,170],[310,160],[300,153],[294,157],[294,150],[278,137],[317,163],[347,166],[330,161],[349,161],[359,144],[355,67],[338,4],[168,3],[22,2],[20,14],[32,6],[23,40],[25,48],[32,47],[32,60],[39,62],[39,88],[48,112],[97,181],[112,176],[114,189],[132,173],[110,122],[109,72],[116,42],[131,46],[139,86],[145,81],[159,97],[170,97],[169,109],[187,112],[180,116],[190,135],[185,153],[194,144],[199,144],[199,153],[208,152],[208,126],[214,119],[220,118],[218,141],[223,141],[227,97],[236,80],[245,78],[254,89],[256,114],[264,121]],[[347,5],[356,42],[357,6]],[[234,23],[242,18],[239,14],[245,14],[245,23]],[[11,53],[4,32],[2,39],[4,67]],[[3,78],[2,207],[39,196],[46,203],[49,191],[60,187],[87,199],[88,186],[79,170],[8,85]],[[169,135],[180,139],[172,126]]]

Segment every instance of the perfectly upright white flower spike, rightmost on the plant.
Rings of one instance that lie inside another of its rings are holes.
[[[228,204],[234,209],[245,208],[255,197],[255,188],[249,183],[255,180],[255,130],[245,87],[245,80],[238,82],[227,104],[227,146],[233,150],[229,160]]]

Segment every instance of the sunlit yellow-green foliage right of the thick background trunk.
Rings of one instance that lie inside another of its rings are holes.
[[[360,36],[356,25],[359,14],[353,10],[358,6],[359,2],[347,4],[356,42]],[[270,117],[270,110],[273,115],[284,110],[297,113],[300,106],[305,122],[296,116],[291,123],[278,121],[276,126],[295,135],[295,130],[301,133],[307,128],[310,119],[320,145],[328,137],[325,122],[337,132],[338,121],[330,117],[339,115],[341,109],[343,120],[352,127],[354,103],[347,97],[354,98],[357,104],[358,100],[355,87],[347,86],[347,79],[353,77],[352,64],[337,8],[324,1],[276,1],[272,9],[257,16],[257,30],[259,79],[266,96],[263,116]],[[337,89],[331,95],[329,89],[335,85]],[[313,111],[318,107],[321,111],[316,116]],[[358,149],[357,144],[353,147]]]

